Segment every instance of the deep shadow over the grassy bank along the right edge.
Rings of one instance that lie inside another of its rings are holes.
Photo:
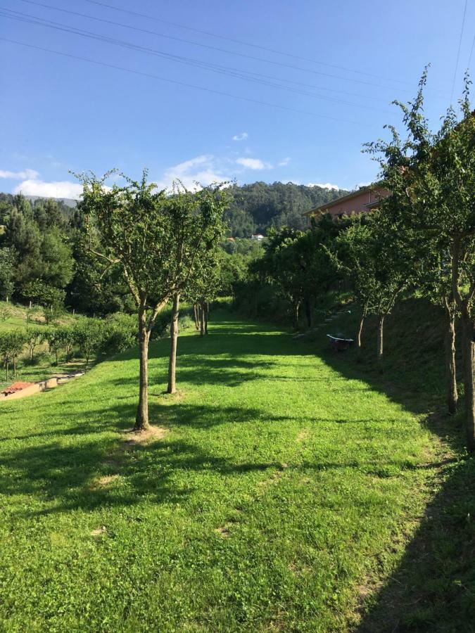
[[[361,364],[355,362],[353,352],[335,354],[322,340],[317,343],[319,357],[340,376],[365,381],[421,416],[422,423],[446,447],[446,454],[424,465],[433,471],[429,487],[437,492],[429,491],[431,500],[398,568],[386,580],[369,578],[369,586],[362,587],[360,622],[352,630],[473,632],[475,459],[464,452],[463,413],[454,417],[445,413],[443,340],[437,330],[440,315],[427,308],[417,322],[413,308],[414,303],[407,302],[400,314],[388,319],[388,358],[382,374],[372,359],[376,350],[373,335],[367,337],[367,355]],[[378,567],[377,561],[374,566]],[[381,570],[382,577],[386,573]]]

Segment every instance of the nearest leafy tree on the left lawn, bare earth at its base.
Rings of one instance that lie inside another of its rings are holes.
[[[90,230],[99,231],[103,250],[92,250],[105,262],[105,270],[120,267],[137,307],[139,338],[139,404],[134,430],[148,428],[148,343],[153,324],[167,304],[174,287],[169,265],[175,245],[165,191],[146,181],[122,175],[125,185],[113,184],[94,174],[80,174],[83,208]]]

